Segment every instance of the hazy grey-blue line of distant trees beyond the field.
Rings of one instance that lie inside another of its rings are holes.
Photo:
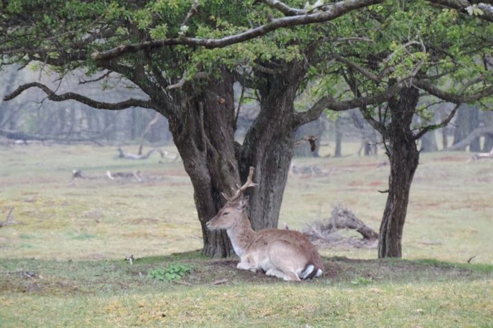
[[[40,74],[39,70],[43,72]],[[79,72],[82,73],[82,72]],[[84,74],[81,74],[84,76]],[[47,68],[33,66],[31,69],[18,70],[17,66],[5,66],[1,73],[3,83],[0,83],[0,96],[12,92],[16,85],[28,81],[42,81],[58,90],[58,93],[74,91],[97,100],[117,102],[132,96],[145,98],[138,89],[125,79],[112,79],[110,83],[86,83],[88,77],[77,77],[74,73],[63,77],[64,83],[60,83],[60,74],[49,71]],[[236,101],[240,98],[240,87],[236,87]],[[172,137],[168,131],[168,122],[164,116],[156,114],[152,109],[130,108],[120,111],[94,109],[73,100],[53,102],[47,100],[46,94],[38,89],[29,90],[22,96],[9,102],[0,104],[0,131],[10,133],[25,133],[31,137],[40,139],[55,139],[56,141],[98,141],[105,142],[131,142],[140,141],[142,133],[149,122],[156,115],[159,119],[152,124],[144,137],[151,143],[170,143]],[[238,104],[236,104],[238,107]],[[416,115],[415,125],[433,124],[440,122],[453,108],[450,103],[421,105],[423,110],[430,114],[429,122],[422,122],[422,118]],[[428,106],[428,107],[427,107]],[[258,104],[255,101],[242,103],[238,119],[237,137],[242,139],[255,115],[258,113]],[[479,107],[462,105],[455,118],[446,126],[436,131],[425,134],[420,142],[424,152],[433,152],[449,148],[475,133],[478,128],[483,128],[487,133],[481,133],[473,138],[466,146],[455,150],[469,150],[471,152],[488,152],[493,147],[493,112],[485,111]],[[343,141],[359,141],[360,155],[376,154],[381,141],[381,136],[366,120],[358,109],[345,111],[338,115],[322,115],[318,120],[301,126],[297,133],[297,139],[309,135],[317,138],[317,145],[334,143],[333,156],[341,156]],[[19,138],[22,139],[22,138]],[[309,144],[295,149],[296,156],[318,156],[318,148],[311,152]]]

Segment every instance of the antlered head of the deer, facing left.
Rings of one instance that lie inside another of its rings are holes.
[[[241,214],[248,206],[248,197],[240,197],[249,187],[255,187],[257,185],[252,181],[254,169],[253,166],[250,167],[247,182],[245,182],[242,187],[238,187],[233,196],[228,197],[225,193],[221,193],[227,202],[223,208],[219,210],[218,214],[207,222],[207,228],[209,228],[209,230],[227,230],[235,226],[237,221],[240,220],[242,217]]]

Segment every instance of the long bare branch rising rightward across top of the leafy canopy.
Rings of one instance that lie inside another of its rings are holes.
[[[188,46],[203,46],[207,49],[222,48],[229,46],[231,44],[236,44],[257,38],[259,36],[264,36],[270,31],[280,29],[282,27],[294,27],[299,25],[309,25],[313,23],[323,23],[329,20],[333,20],[339,16],[342,16],[352,10],[367,7],[368,5],[375,5],[381,3],[383,0],[344,0],[331,5],[324,6],[322,12],[314,12],[313,14],[296,15],[282,18],[275,18],[269,23],[255,27],[253,29],[248,29],[247,31],[234,34],[232,36],[225,36],[219,39],[200,39],[200,38],[171,38],[164,40],[154,40],[148,42],[134,43],[134,44],[123,44],[117,46],[116,48],[110,49],[103,52],[92,53],[92,59],[101,61],[108,60],[114,57],[121,56],[125,53],[136,53],[142,50],[152,50],[159,49],[163,46],[175,46],[178,44],[188,45]]]

